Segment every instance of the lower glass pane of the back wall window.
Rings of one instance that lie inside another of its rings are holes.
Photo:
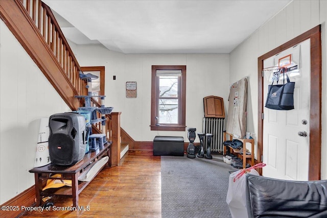
[[[178,99],[159,99],[159,124],[178,124]]]

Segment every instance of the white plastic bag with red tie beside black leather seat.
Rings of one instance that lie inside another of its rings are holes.
[[[264,163],[258,163],[247,169],[240,169],[229,175],[229,184],[226,202],[228,204],[231,217],[233,218],[247,218],[246,209],[246,181],[245,174],[254,174],[259,176],[255,168],[265,166]]]

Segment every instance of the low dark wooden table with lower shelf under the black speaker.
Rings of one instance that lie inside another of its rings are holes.
[[[100,160],[103,156],[107,155],[109,157],[108,164],[111,166],[111,157],[110,157],[110,147],[111,142],[107,142],[104,145],[104,149],[97,150],[94,152],[90,152],[84,156],[82,160],[80,160],[75,165],[71,166],[61,166],[56,165],[54,163],[50,163],[45,166],[35,167],[31,169],[29,172],[34,173],[35,177],[35,195],[36,195],[36,205],[40,206],[42,202],[41,197],[45,196],[72,196],[73,198],[73,206],[78,207],[78,195],[81,191],[90,183],[94,177],[101,171],[95,174],[93,178],[91,178],[88,182],[78,181],[78,178],[83,173],[86,173],[89,168],[91,168],[98,160]],[[53,177],[55,174],[61,174],[61,177]],[[49,188],[42,190],[46,184],[46,180],[48,179],[68,179],[72,180],[72,187],[63,186],[61,188]]]

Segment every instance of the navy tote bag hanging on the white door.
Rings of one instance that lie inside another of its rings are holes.
[[[287,75],[285,68],[281,68],[283,73],[283,84],[268,86],[268,94],[266,100],[266,108],[274,110],[292,110],[294,109],[294,86],[295,82],[290,82],[290,78]],[[285,83],[285,75],[287,83]]]

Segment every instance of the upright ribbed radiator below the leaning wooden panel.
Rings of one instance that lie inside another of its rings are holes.
[[[211,152],[222,153],[223,152],[223,139],[225,130],[225,118],[203,118],[202,131],[203,133],[213,134],[211,142]],[[203,142],[204,152],[207,149],[207,140],[204,137]]]

